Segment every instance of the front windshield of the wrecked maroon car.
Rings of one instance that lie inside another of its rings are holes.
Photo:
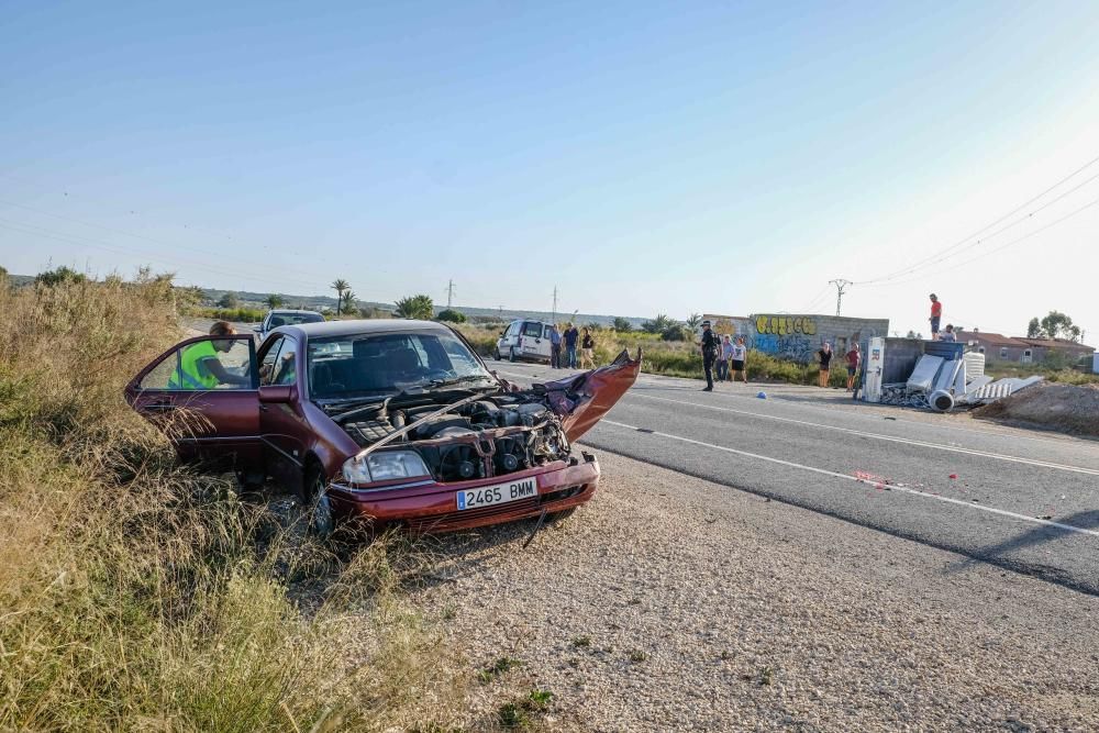
[[[310,338],[308,359],[310,395],[317,399],[492,380],[465,343],[451,333]]]

